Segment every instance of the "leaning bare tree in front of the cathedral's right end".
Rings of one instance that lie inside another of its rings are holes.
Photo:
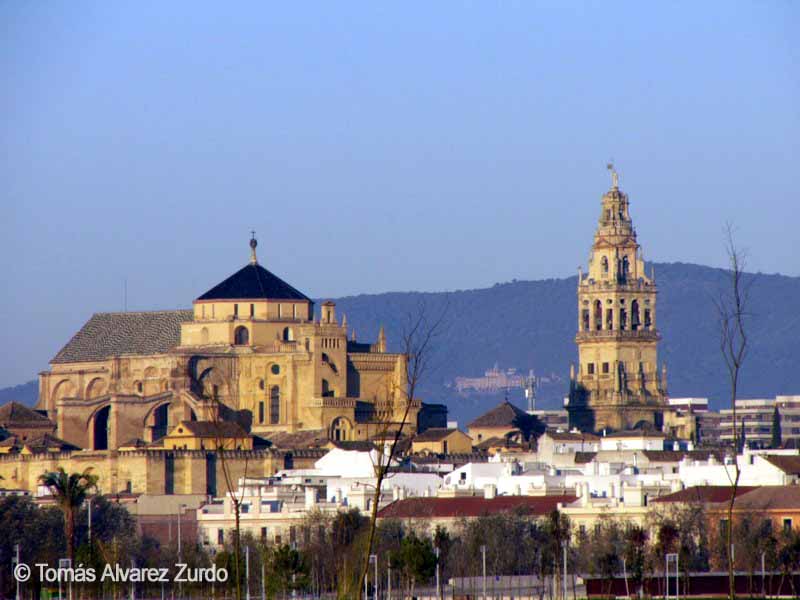
[[[370,554],[375,544],[375,530],[378,523],[378,506],[381,499],[381,487],[384,480],[389,476],[390,468],[400,455],[400,442],[403,439],[403,432],[409,425],[409,414],[415,403],[415,394],[423,377],[431,367],[431,354],[433,344],[441,332],[442,325],[447,313],[448,304],[445,303],[442,310],[431,319],[424,303],[420,303],[416,315],[408,315],[406,326],[401,333],[401,355],[405,362],[405,377],[400,385],[395,384],[392,390],[392,404],[400,402],[401,416],[396,420],[398,411],[391,411],[390,415],[385,415],[382,425],[382,432],[379,438],[383,440],[383,448],[376,453],[375,459],[375,492],[372,499],[370,510],[370,523],[367,543],[364,550],[363,565],[358,579],[358,589],[355,590],[357,597],[361,599],[364,594],[364,580],[370,566]]]

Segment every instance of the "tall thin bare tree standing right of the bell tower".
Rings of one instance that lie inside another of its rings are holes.
[[[726,553],[728,556],[728,596],[730,600],[736,597],[734,586],[734,565],[733,565],[733,506],[736,502],[736,492],[741,477],[741,469],[737,454],[739,452],[740,438],[744,434],[744,427],[739,433],[736,429],[736,395],[739,387],[739,375],[742,365],[747,356],[747,330],[745,321],[749,317],[749,296],[752,278],[747,280],[744,273],[745,255],[736,246],[733,227],[730,223],[725,226],[725,249],[728,253],[729,284],[728,289],[722,290],[715,304],[719,317],[719,345],[725,366],[728,370],[728,378],[731,391],[731,416],[733,421],[733,476],[728,468],[725,472],[731,483],[731,497],[728,500],[727,512],[727,531],[725,535]]]

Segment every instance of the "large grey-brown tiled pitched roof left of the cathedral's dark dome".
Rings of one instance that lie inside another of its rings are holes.
[[[51,363],[104,360],[122,354],[163,354],[177,346],[191,310],[95,313]]]

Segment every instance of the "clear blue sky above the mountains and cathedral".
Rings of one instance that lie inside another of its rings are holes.
[[[797,2],[0,4],[0,385],[247,260],[309,295],[645,257],[797,275]]]

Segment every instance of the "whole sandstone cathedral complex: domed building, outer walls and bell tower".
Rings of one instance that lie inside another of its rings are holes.
[[[249,262],[191,310],[93,315],[40,374],[37,410],[0,408],[0,477],[35,490],[45,471],[92,468],[105,493],[205,498],[238,477],[313,464],[323,448],[380,444],[404,417],[404,434],[433,428],[422,441],[447,453],[458,436],[446,407],[407,397],[407,356],[387,351],[383,328],[356,341],[333,302],[315,310],[256,248],[253,238]],[[577,296],[570,428],[693,437],[691,411],[668,405],[655,275],[613,168]],[[472,423],[472,442],[527,442],[544,428],[529,420],[503,403]]]

